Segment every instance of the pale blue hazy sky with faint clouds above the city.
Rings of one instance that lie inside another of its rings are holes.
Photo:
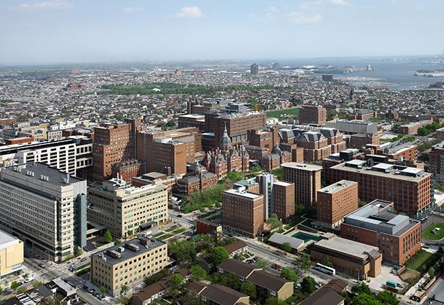
[[[437,55],[443,0],[1,0],[0,64]]]

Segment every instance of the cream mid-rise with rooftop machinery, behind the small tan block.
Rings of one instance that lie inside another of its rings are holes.
[[[131,186],[120,179],[104,181],[88,190],[88,219],[124,238],[168,220],[168,192],[164,184]]]

